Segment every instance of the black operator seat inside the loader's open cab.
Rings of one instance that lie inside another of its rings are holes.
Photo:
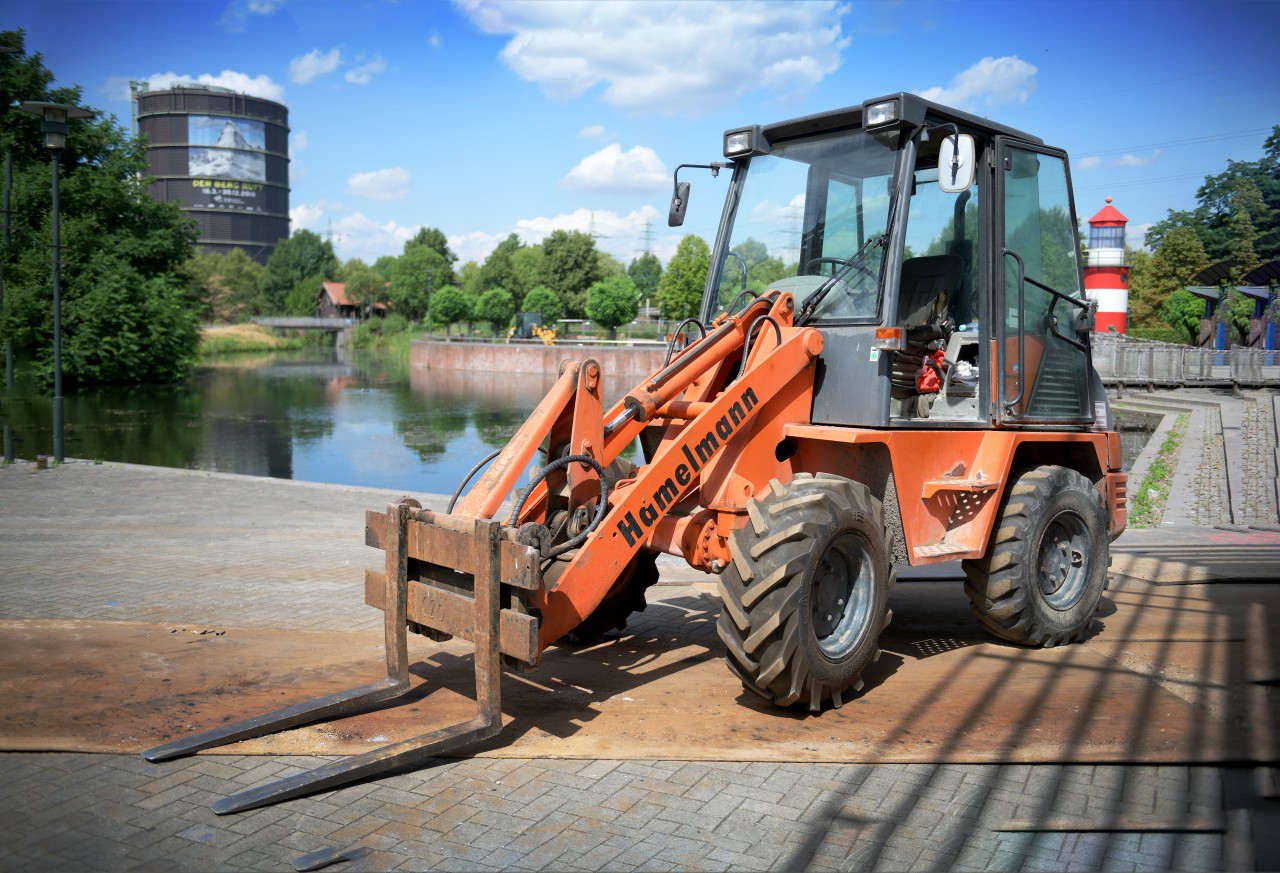
[[[905,399],[918,394],[915,372],[929,352],[946,348],[955,326],[952,306],[964,284],[964,259],[929,255],[902,261],[897,293],[897,324],[902,348],[893,355],[892,394]]]

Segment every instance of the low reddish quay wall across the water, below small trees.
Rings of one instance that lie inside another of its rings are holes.
[[[556,374],[562,361],[593,358],[609,375],[645,376],[666,357],[663,343],[609,344],[562,342],[543,343],[474,343],[438,339],[415,339],[410,344],[408,362],[425,370],[471,370],[477,372]]]

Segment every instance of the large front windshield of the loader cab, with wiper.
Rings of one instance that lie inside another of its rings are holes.
[[[896,152],[861,129],[774,143],[739,172],[716,311],[745,284],[826,288],[810,320],[877,317]]]

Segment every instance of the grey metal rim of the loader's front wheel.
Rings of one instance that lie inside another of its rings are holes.
[[[874,563],[867,543],[854,534],[837,538],[814,571],[812,621],[818,649],[840,661],[867,631],[874,597]]]

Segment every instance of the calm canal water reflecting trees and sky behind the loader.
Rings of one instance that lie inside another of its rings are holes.
[[[178,387],[69,392],[64,452],[449,494],[472,465],[507,443],[553,380],[411,369],[401,356],[361,351],[236,355],[201,366]],[[604,388],[608,403],[630,385],[607,380]],[[8,406],[15,456],[52,454],[47,393],[19,378]],[[1121,425],[1126,465],[1156,424],[1142,419]]]

